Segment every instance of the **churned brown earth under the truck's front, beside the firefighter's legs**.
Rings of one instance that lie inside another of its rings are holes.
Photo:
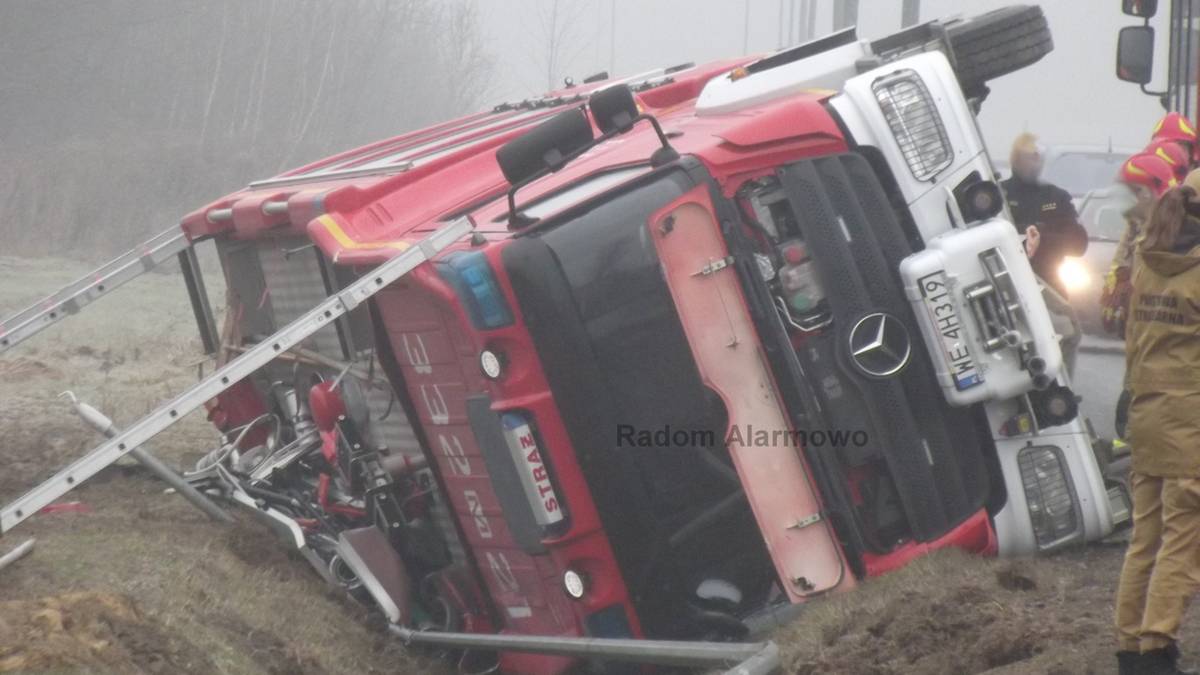
[[[814,607],[776,640],[799,674],[1116,673],[1122,552],[1099,544],[1042,560],[942,554]],[[1184,626],[1182,644],[1200,645],[1200,623]]]

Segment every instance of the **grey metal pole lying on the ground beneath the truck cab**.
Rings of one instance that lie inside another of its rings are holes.
[[[557,638],[414,631],[392,623],[389,631],[409,645],[574,656],[683,668],[726,667],[728,674],[767,675],[780,669],[779,646],[767,643],[690,643],[617,638]]]

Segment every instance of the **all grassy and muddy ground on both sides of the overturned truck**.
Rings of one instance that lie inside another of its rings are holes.
[[[78,271],[0,257],[0,316]],[[199,341],[178,275],[149,275],[101,303],[0,356],[0,502],[97,442],[60,392],[128,424],[196,381]],[[190,465],[212,441],[193,414],[152,449]],[[37,538],[0,572],[0,673],[451,670],[389,639],[269,532],[205,520],[137,465],[65,501],[80,510],[36,515],[0,540],[2,551]],[[814,603],[775,639],[788,671],[804,674],[1115,673],[1121,555],[1116,543],[1044,560],[932,556]],[[1200,645],[1198,628],[1186,645]]]

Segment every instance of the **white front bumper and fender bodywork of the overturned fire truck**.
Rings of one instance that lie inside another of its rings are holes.
[[[1054,446],[1062,453],[1064,474],[1080,516],[1074,538],[1103,538],[1114,528],[1112,510],[1084,420],[1076,418],[1062,426],[1014,437],[998,432],[1006,422],[1022,412],[1018,402],[1033,388],[1033,382],[1015,350],[988,353],[980,346],[982,330],[962,298],[964,288],[986,277],[979,262],[980,251],[991,247],[1001,252],[1026,318],[1024,328],[1027,334],[1024,338],[1044,359],[1046,377],[1057,377],[1060,383],[1067,383],[1067,376],[1060,372],[1060,336],[1054,331],[1039,281],[1024,256],[1020,237],[1008,222],[1007,204],[1002,207],[1002,219],[984,225],[971,223],[974,227],[968,228],[954,197],[954,187],[973,173],[983,180],[997,181],[974,112],[943,53],[924,52],[859,72],[871,58],[870,44],[859,41],[738,79],[721,76],[706,85],[697,101],[697,114],[728,113],[812,89],[838,91],[828,104],[846,129],[852,149],[870,147],[878,151],[890,167],[917,231],[928,245],[926,250],[908,258],[901,275],[922,323],[926,348],[934,363],[938,364],[937,377],[943,392],[954,405],[982,404],[986,411],[1007,491],[1004,504],[992,516],[1000,552],[1030,554],[1039,550],[1019,466],[1021,449],[1031,444]],[[922,79],[953,151],[949,163],[924,180],[910,169],[872,89],[877,80],[898,71],[911,71]],[[955,386],[946,354],[946,340],[936,330],[928,305],[919,295],[919,280],[937,270],[946,270],[947,280],[953,280],[964,339],[978,359],[977,368],[983,376],[978,386],[965,389]]]

